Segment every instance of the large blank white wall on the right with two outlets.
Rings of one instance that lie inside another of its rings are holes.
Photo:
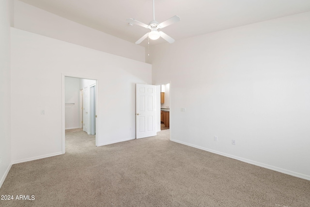
[[[310,179],[309,25],[310,12],[150,48],[153,83],[171,80],[171,139]]]

